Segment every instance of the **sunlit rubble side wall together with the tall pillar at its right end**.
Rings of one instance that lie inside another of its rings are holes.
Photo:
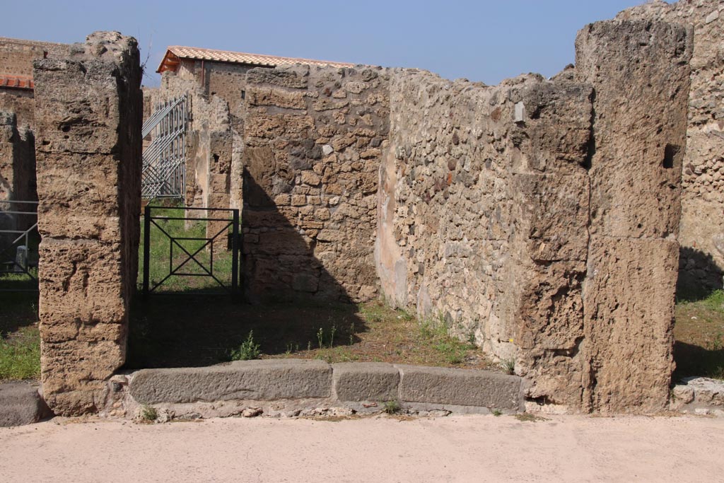
[[[668,24],[599,22],[552,80],[394,72],[376,239],[387,298],[515,361],[532,400],[663,408],[690,42]]]

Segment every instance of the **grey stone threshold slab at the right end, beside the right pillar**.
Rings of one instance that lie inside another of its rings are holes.
[[[489,371],[395,365],[400,400],[485,408],[518,409],[521,378]]]

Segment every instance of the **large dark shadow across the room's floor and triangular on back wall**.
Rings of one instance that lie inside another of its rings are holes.
[[[329,337],[334,328],[334,345],[358,343],[356,334],[368,330],[358,306],[348,303],[345,289],[315,258],[311,238],[248,175],[244,196],[242,283],[257,303],[184,293],[137,298],[127,369],[229,361],[251,331],[261,352],[274,355],[318,348],[320,329]]]

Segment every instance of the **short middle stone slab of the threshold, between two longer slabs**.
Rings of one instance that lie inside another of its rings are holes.
[[[400,371],[392,364],[345,362],[333,364],[334,390],[340,401],[397,399]]]

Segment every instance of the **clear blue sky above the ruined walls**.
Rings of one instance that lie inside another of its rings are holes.
[[[576,31],[645,0],[7,1],[0,36],[72,43],[94,30],[138,39],[146,85],[166,46],[418,67],[495,84],[573,62]]]

